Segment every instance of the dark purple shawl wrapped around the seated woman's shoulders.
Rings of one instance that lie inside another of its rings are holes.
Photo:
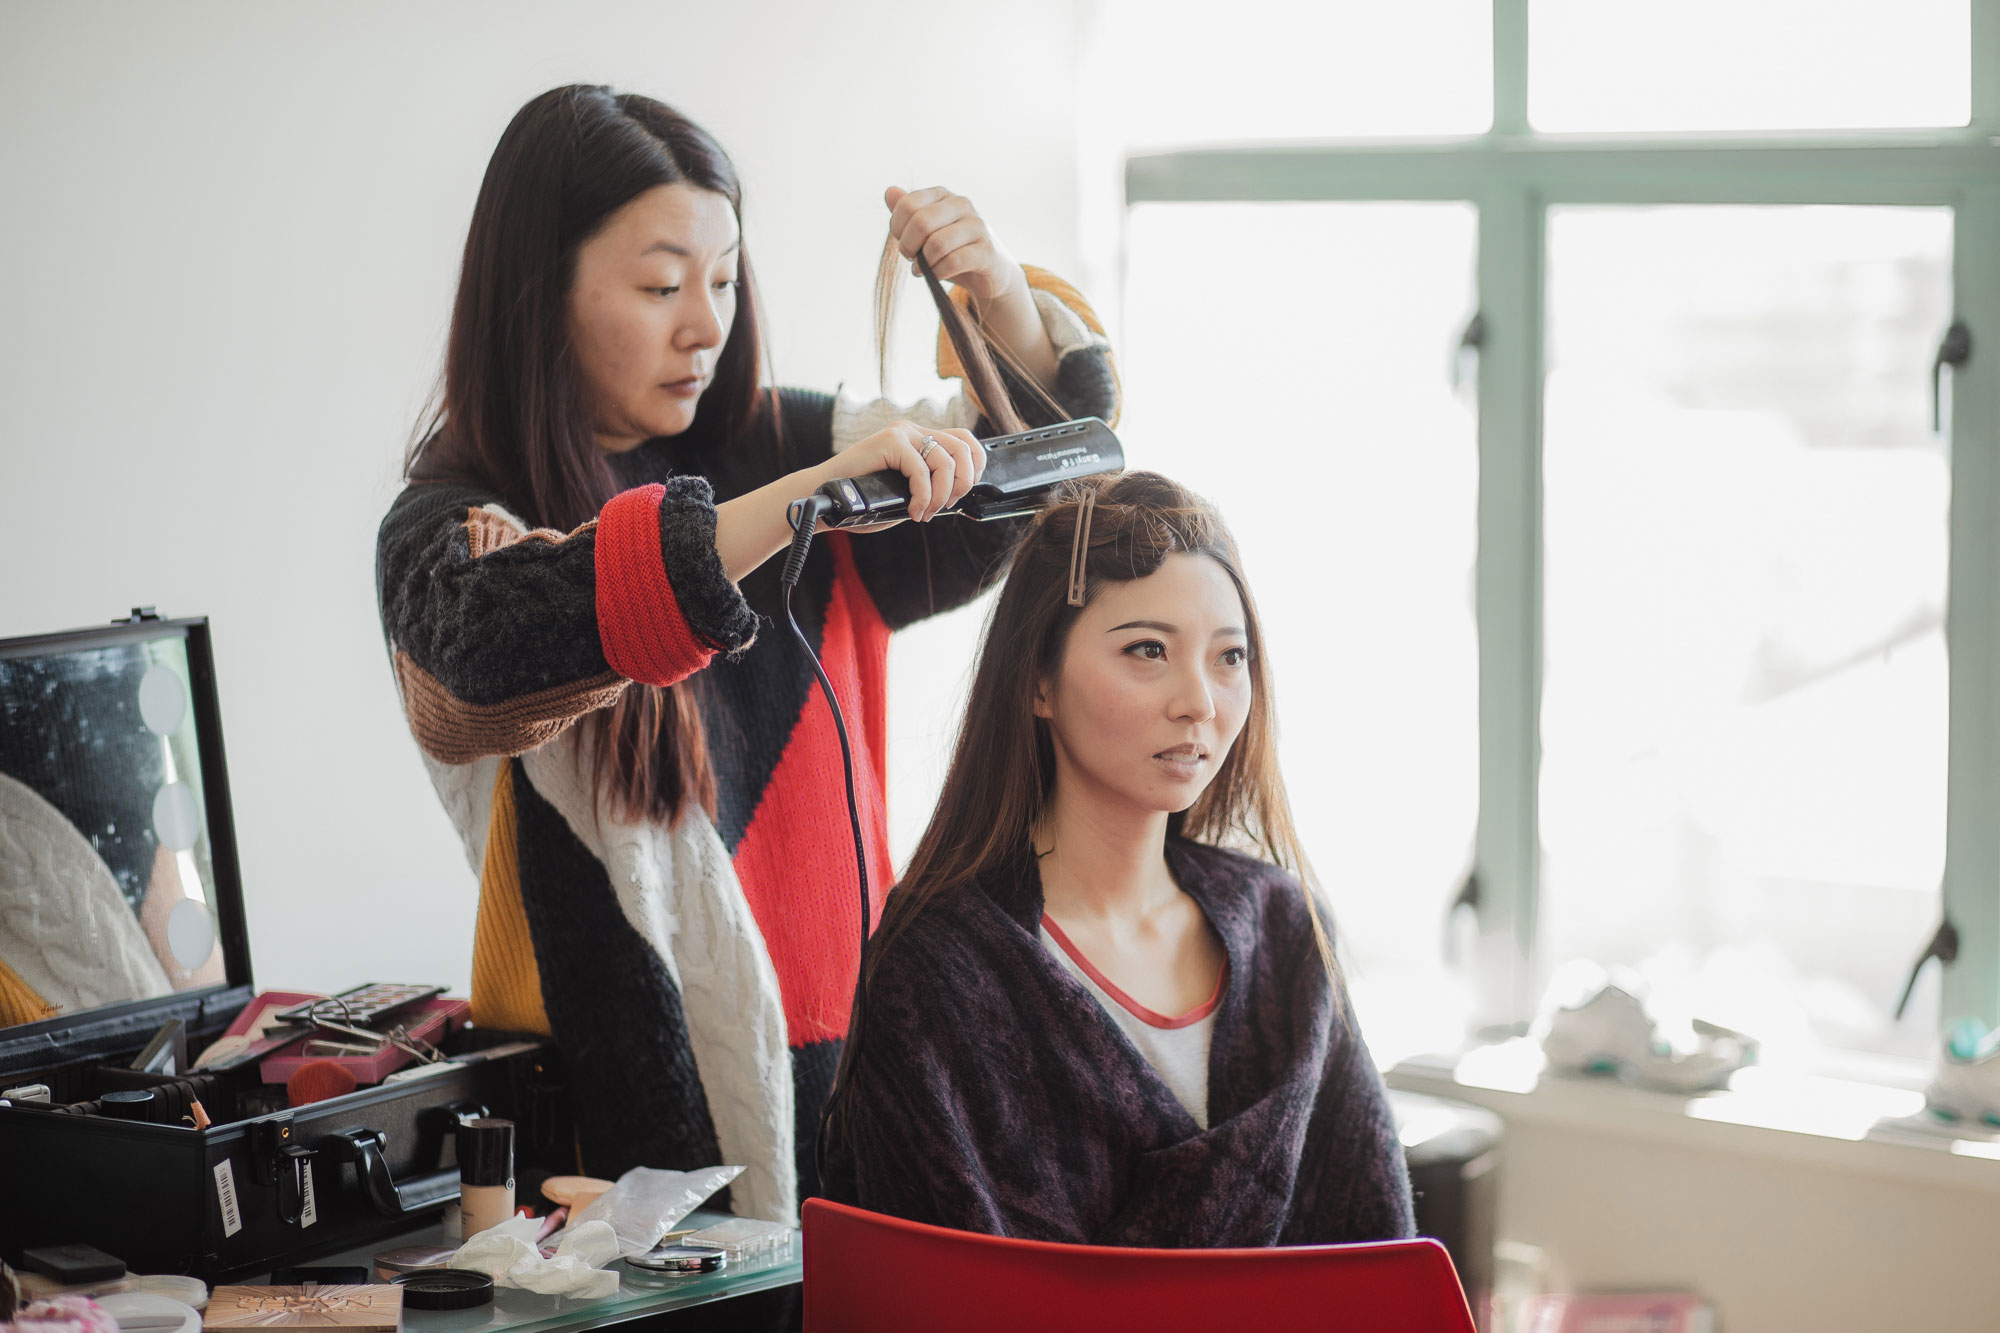
[[[1298,883],[1180,839],[1166,859],[1230,959],[1206,1131],[1042,947],[1042,883],[1024,855],[932,899],[880,959],[826,1141],[826,1197],[1090,1245],[1412,1235],[1382,1079],[1334,1005]]]

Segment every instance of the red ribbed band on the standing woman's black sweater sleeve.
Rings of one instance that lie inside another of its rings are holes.
[[[688,626],[660,556],[666,486],[636,486],[598,510],[598,634],[612,671],[642,685],[674,685],[716,654]]]

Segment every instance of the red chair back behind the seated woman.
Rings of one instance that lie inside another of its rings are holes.
[[[1118,1249],[948,1231],[808,1199],[806,1333],[1472,1333],[1436,1241]]]

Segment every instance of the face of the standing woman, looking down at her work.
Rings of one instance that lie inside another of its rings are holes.
[[[570,334],[598,444],[624,452],[694,422],[736,322],[740,244],[728,198],[670,184],[578,248]]]

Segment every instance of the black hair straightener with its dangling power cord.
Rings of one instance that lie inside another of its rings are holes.
[[[994,518],[1018,518],[1048,504],[1056,486],[1072,476],[1096,476],[1098,472],[1122,472],[1124,448],[1118,436],[1096,416],[1036,426],[1014,434],[980,440],[986,446],[986,472],[956,504],[942,510],[980,522]],[[862,977],[868,975],[868,935],[872,933],[872,913],[868,909],[868,847],[862,843],[862,815],[854,799],[854,751],[848,747],[848,725],[840,717],[840,701],[834,699],[834,683],[826,679],[820,654],[812,650],[812,640],[798,628],[792,614],[792,588],[806,570],[806,552],[812,550],[812,534],[824,518],[834,528],[854,528],[870,522],[888,522],[910,514],[910,482],[902,472],[872,472],[868,476],[842,476],[820,486],[816,492],[792,500],[786,510],[792,518],[792,544],[784,556],[784,618],[812,662],[812,675],[820,679],[820,693],[834,713],[834,735],[840,737],[840,771],[848,783],[848,825],[854,831],[854,875],[862,897],[862,949],[860,969],[854,977],[854,1019],[860,1021]],[[850,1029],[848,1039],[860,1033]],[[820,1133],[814,1139],[814,1161],[820,1143],[826,1139],[826,1121],[832,1101],[820,1109]]]

